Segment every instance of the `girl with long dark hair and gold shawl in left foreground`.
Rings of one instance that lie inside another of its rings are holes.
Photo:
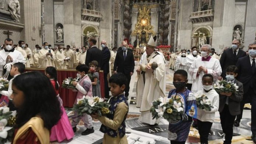
[[[60,103],[49,78],[40,72],[16,76],[11,98],[17,110],[13,144],[46,144],[61,117]]]

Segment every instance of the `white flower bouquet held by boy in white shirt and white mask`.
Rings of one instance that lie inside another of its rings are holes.
[[[200,109],[205,109],[206,111],[211,111],[211,101],[205,94],[196,96],[196,105]]]

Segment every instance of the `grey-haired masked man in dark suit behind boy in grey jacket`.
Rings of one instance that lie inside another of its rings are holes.
[[[234,39],[232,41],[232,48],[224,50],[220,58],[220,66],[222,69],[221,77],[225,79],[226,69],[230,65],[236,65],[238,58],[245,57],[246,52],[239,49],[241,41],[239,39]]]

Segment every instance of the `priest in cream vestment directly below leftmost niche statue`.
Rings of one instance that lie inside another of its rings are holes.
[[[58,51],[56,53],[56,61],[55,61],[56,69],[67,69],[67,61],[68,61],[68,58],[64,54],[63,47],[59,46]]]

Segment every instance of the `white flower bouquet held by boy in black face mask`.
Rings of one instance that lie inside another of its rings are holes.
[[[184,108],[179,97],[171,98],[159,98],[153,101],[153,106],[150,108],[153,119],[161,118],[168,120],[169,122],[175,122],[182,120],[182,114],[184,114]]]

